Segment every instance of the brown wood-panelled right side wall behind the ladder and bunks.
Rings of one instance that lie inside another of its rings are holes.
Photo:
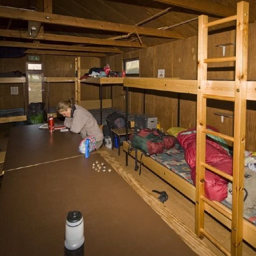
[[[217,31],[219,32],[219,31]],[[209,36],[209,56],[221,57],[222,47],[215,45],[234,43],[234,30],[222,33],[212,33]],[[249,53],[248,53],[248,80],[256,80],[256,24],[249,26]],[[234,56],[235,46],[227,46],[225,56]],[[158,69],[165,69],[165,77],[179,77],[181,79],[197,78],[197,36],[184,40],[172,41],[162,45],[148,47],[133,52],[127,52],[103,59],[103,65],[109,63],[111,67],[122,68],[122,59],[140,58],[140,77],[157,77]],[[118,61],[118,63],[117,63]],[[120,70],[119,69],[119,70]],[[234,63],[211,64],[208,69],[209,79],[234,79]],[[116,108],[122,108],[124,102],[120,100],[122,91],[113,94],[113,104]],[[180,116],[179,126],[190,128],[196,125],[196,96],[180,94]],[[156,115],[161,127],[166,131],[171,126],[177,126],[178,94],[162,93],[147,90],[145,95],[145,112]],[[130,109],[132,113],[143,113],[143,91],[133,90],[131,92]],[[164,111],[163,111],[164,110]],[[215,126],[221,133],[233,135],[234,119],[214,114],[233,114],[234,105],[231,102],[208,100],[207,123]],[[246,121],[246,149],[256,151],[256,104],[247,102]]]

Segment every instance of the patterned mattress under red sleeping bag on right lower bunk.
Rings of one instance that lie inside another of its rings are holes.
[[[184,178],[189,183],[193,184],[190,175],[190,168],[184,158],[184,150],[178,143],[175,145],[175,147],[166,150],[164,153],[154,154],[150,157],[164,167],[167,167],[170,171],[176,173],[179,177]],[[226,200],[223,200],[222,203],[229,209],[232,208],[232,205]],[[256,209],[244,211],[244,218],[256,225]]]

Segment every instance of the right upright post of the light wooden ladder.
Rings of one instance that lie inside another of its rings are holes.
[[[232,255],[242,255],[249,4],[237,4],[234,91]]]

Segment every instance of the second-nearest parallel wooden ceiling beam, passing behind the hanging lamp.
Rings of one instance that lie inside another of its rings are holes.
[[[0,29],[0,36],[31,39],[31,37],[28,37],[27,32],[18,31],[18,30]],[[116,47],[137,47],[137,48],[146,47],[146,45],[141,45],[140,43],[137,43],[137,42],[115,41],[115,40],[108,40],[108,39],[88,38],[88,37],[72,36],[72,35],[48,34],[48,33],[41,33],[41,31],[39,32],[36,39],[79,43],[79,44],[111,45]]]

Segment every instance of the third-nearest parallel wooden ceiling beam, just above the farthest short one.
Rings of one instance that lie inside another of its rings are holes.
[[[37,43],[23,43],[23,42],[11,42],[2,41],[0,46],[7,47],[22,47],[22,48],[33,48],[33,49],[52,49],[52,50],[63,50],[63,51],[81,51],[81,52],[100,52],[100,53],[122,53],[119,49],[112,48],[94,48],[84,46],[69,46],[69,45],[49,45],[49,44],[37,44]]]

